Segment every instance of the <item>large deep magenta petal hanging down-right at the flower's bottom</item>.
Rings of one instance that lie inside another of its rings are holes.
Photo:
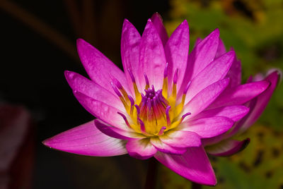
[[[216,177],[203,147],[190,147],[183,155],[157,152],[154,156],[161,164],[195,183],[216,185]]]

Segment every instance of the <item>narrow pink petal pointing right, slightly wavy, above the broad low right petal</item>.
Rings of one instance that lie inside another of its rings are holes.
[[[231,118],[233,121],[238,121],[243,118],[243,116],[246,116],[248,111],[249,109],[246,106],[224,106],[202,111],[200,114],[197,114],[197,116],[193,117],[192,120],[214,116],[224,116]],[[188,120],[191,120],[190,117],[188,117]]]

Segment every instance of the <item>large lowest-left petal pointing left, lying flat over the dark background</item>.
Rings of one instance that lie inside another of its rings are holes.
[[[71,128],[43,141],[47,147],[88,156],[117,156],[127,154],[125,141],[110,138],[96,128],[94,121]]]

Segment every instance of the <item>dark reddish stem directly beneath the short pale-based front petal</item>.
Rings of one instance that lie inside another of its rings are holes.
[[[157,161],[155,158],[149,159],[149,166],[146,174],[146,184],[144,188],[154,189],[156,186],[156,176],[157,176]]]

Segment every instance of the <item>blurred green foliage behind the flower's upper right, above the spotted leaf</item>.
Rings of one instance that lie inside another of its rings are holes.
[[[243,82],[270,68],[283,69],[283,1],[171,1],[169,34],[186,19],[190,25],[190,49],[197,37],[219,28],[227,50],[241,59]],[[279,85],[260,123],[283,130],[283,86]]]

